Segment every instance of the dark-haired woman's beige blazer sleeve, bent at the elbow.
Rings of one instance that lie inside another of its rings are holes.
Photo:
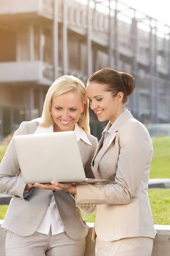
[[[76,205],[129,204],[144,171],[150,167],[153,145],[138,122],[130,123],[119,133],[120,153],[114,184],[77,184]],[[105,172],[105,170],[102,170]],[[149,176],[149,174],[148,174]],[[149,177],[148,177],[149,178]]]

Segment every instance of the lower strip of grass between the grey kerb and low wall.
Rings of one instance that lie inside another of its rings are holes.
[[[170,189],[149,189],[150,205],[154,224],[170,225]],[[0,219],[4,219],[8,205],[0,206]],[[94,222],[95,212],[82,213],[86,222]]]

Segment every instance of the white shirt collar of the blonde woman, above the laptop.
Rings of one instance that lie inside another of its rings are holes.
[[[37,130],[34,132],[34,134],[43,134],[43,133],[51,133],[53,132],[53,125],[51,125],[48,128],[43,127],[42,125],[38,125]],[[86,144],[92,145],[91,142],[89,141],[85,131],[78,125],[75,124],[74,127],[74,132],[76,134],[77,141],[80,139],[83,140]]]

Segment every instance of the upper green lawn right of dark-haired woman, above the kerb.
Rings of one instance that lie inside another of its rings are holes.
[[[153,160],[150,178],[170,178],[170,137],[152,138]]]

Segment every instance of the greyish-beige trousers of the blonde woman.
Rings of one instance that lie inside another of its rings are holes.
[[[21,237],[6,234],[6,256],[84,256],[85,238],[72,240],[66,232],[51,236],[35,232]]]

